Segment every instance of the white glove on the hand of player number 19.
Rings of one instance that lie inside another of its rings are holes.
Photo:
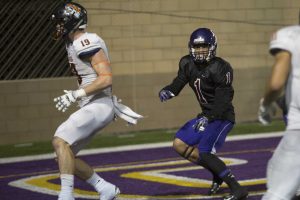
[[[78,98],[85,97],[86,93],[84,89],[79,90],[64,90],[65,94],[54,98],[56,102],[55,107],[62,112],[65,112],[72,103],[75,103]]]

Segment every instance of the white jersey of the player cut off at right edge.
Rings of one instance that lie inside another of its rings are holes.
[[[300,26],[289,26],[277,31],[270,44],[272,49],[291,53],[291,71],[286,84],[287,129],[300,129]]]

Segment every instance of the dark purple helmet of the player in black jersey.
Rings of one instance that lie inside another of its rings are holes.
[[[208,52],[196,51],[200,46],[208,47]],[[196,29],[190,36],[188,44],[190,56],[196,63],[208,62],[216,56],[217,37],[208,28]]]

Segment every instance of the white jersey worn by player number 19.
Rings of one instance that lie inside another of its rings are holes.
[[[106,57],[109,59],[107,47],[104,41],[95,33],[85,33],[81,35],[72,43],[68,44],[66,48],[68,52],[70,67],[72,69],[73,74],[75,74],[78,78],[79,88],[86,87],[98,77],[91,63],[88,60],[80,59],[81,56],[89,55],[93,52],[97,52],[100,49],[102,49]],[[80,107],[84,106],[85,104],[89,103],[94,99],[98,99],[104,96],[111,97],[111,90],[111,87],[109,87],[100,91],[98,94],[83,97],[79,101]]]

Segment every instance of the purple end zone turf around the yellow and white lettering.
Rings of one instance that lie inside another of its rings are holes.
[[[280,137],[251,139],[241,141],[226,142],[224,147],[218,152],[222,158],[235,158],[246,160],[243,165],[233,165],[230,169],[239,180],[262,179],[265,178],[266,165],[268,159],[272,155],[272,151],[276,147]],[[181,163],[166,166],[149,166],[147,164],[165,163],[168,161],[182,161],[182,159],[174,152],[171,147],[161,147],[155,149],[132,150],[123,152],[101,153],[95,155],[81,156],[81,158],[97,169],[111,167],[114,170],[99,172],[99,174],[118,185],[123,195],[141,195],[167,196],[175,197],[183,195],[206,195],[207,188],[188,187],[177,184],[167,184],[156,181],[139,180],[135,178],[121,177],[130,172],[143,172],[149,170],[166,170],[165,175],[188,177],[191,179],[207,179],[211,180],[211,175],[203,169],[193,169],[195,165],[191,163]],[[139,165],[139,168],[127,168],[126,166]],[[125,166],[125,167],[124,167]],[[117,167],[123,167],[117,169]],[[187,170],[172,171],[178,167],[187,167]],[[44,194],[28,189],[21,189],[8,185],[10,182],[27,177],[37,175],[52,174],[57,172],[57,164],[54,160],[40,160],[17,162],[0,165],[0,199],[1,200],[54,200],[54,195]],[[179,180],[180,181],[180,180]],[[49,183],[59,184],[59,179],[52,179]],[[76,179],[75,187],[84,191],[92,191],[92,188],[85,182]],[[255,184],[247,186],[250,193],[261,192],[265,190],[265,184]],[[223,188],[222,193],[228,193],[227,188]],[[222,195],[221,193],[221,195]],[[121,196],[122,197],[122,196]],[[128,197],[128,196],[126,196]],[[94,199],[97,198],[96,196]],[[260,199],[261,195],[252,195],[249,199]],[[77,198],[87,199],[87,198]],[[123,196],[125,199],[125,196]],[[139,199],[139,198],[128,198]],[[220,199],[220,198],[213,198]]]

